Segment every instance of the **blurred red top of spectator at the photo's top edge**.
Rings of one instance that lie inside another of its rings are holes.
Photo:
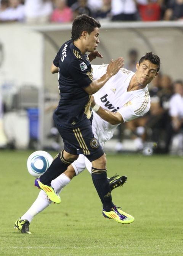
[[[163,0],[136,0],[142,21],[157,21],[161,19]]]

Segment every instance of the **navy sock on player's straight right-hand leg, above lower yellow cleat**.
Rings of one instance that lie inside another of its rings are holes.
[[[114,207],[114,203],[112,203],[111,190],[106,171],[107,168],[101,170],[92,167],[92,180],[103,204],[103,209],[106,212],[110,212],[111,208]]]

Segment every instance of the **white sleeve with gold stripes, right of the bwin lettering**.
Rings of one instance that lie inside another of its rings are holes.
[[[131,121],[135,118],[145,115],[150,108],[150,97],[149,94],[145,97],[139,98],[138,100],[134,98],[127,102],[123,107],[119,108],[117,112],[120,113],[124,122]]]

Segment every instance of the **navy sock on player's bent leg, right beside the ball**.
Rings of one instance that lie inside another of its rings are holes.
[[[51,163],[47,171],[40,177],[40,182],[45,185],[50,185],[51,181],[67,170],[67,167],[72,162],[67,161],[63,157],[63,151],[59,153]]]

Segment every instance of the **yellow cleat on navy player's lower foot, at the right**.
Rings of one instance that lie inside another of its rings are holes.
[[[133,216],[123,212],[120,207],[116,207],[116,206],[114,208],[111,208],[110,212],[105,212],[103,210],[102,213],[105,218],[116,220],[117,222],[122,224],[130,224],[135,220]]]

